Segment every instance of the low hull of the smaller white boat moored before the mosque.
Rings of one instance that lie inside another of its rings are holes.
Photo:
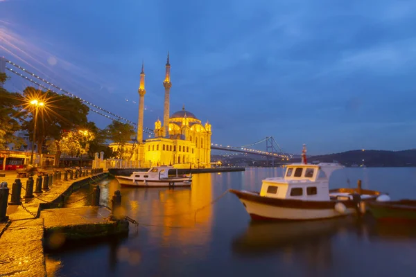
[[[133,180],[129,177],[116,176],[121,186],[137,188],[172,188],[172,187],[189,187],[192,185],[190,178],[175,178],[166,180]]]

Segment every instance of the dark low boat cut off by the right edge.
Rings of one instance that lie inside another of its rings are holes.
[[[402,199],[399,201],[369,203],[370,213],[380,221],[416,222],[416,200]]]

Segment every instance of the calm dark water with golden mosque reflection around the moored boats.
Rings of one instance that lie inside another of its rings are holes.
[[[209,205],[229,188],[259,190],[261,179],[282,173],[248,168],[200,174],[192,189],[175,190],[103,181],[101,203],[110,206],[114,190],[121,190],[123,207],[141,225],[130,225],[122,240],[49,253],[48,269],[55,276],[415,276],[416,227],[379,225],[371,218],[251,224],[235,195]],[[330,186],[356,186],[358,179],[392,199],[416,198],[416,168],[346,168],[333,173]],[[71,205],[82,204],[87,200]]]

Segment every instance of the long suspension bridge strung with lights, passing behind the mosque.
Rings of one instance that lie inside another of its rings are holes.
[[[135,127],[135,129],[137,129],[137,123],[133,122],[132,120],[128,120],[127,118],[124,118],[123,116],[119,116],[117,114],[114,114],[112,111],[108,111],[107,109],[104,109],[102,107],[99,107],[98,105],[95,105],[91,101],[80,98],[76,94],[66,91],[65,89],[62,89],[61,87],[58,87],[58,85],[53,84],[52,82],[49,82],[49,80],[45,80],[44,78],[41,78],[35,73],[28,71],[23,66],[20,66],[19,64],[16,64],[15,62],[11,62],[10,60],[7,60],[5,57],[0,57],[0,72],[5,73],[6,70],[10,71],[10,73],[13,73],[19,76],[20,78],[23,78],[24,80],[27,80],[28,82],[32,82],[33,84],[36,84],[38,87],[42,89],[46,89],[46,90],[53,91],[58,94],[66,94],[67,96],[78,98],[81,102],[83,102],[85,105],[89,107],[90,111],[93,111],[94,113],[100,116],[103,116],[105,118],[108,118],[110,120],[118,120],[123,123],[129,123],[133,127]],[[150,137],[155,136],[153,129],[150,129],[148,127],[144,127],[143,132],[149,134]],[[256,149],[256,147],[259,147],[262,143],[266,143],[266,150]],[[227,152],[239,152],[239,153],[245,153],[245,154],[259,155],[259,156],[266,157],[268,160],[271,159],[272,163],[274,163],[275,159],[287,160],[289,158],[289,155],[285,154],[284,151],[281,150],[279,144],[275,141],[275,138],[273,136],[266,136],[264,139],[261,139],[260,141],[257,141],[255,143],[251,143],[248,145],[242,145],[242,146],[221,145],[218,143],[211,143],[211,149],[222,150],[222,151],[227,151]]]

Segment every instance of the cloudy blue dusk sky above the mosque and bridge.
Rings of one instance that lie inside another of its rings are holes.
[[[171,114],[185,105],[209,120],[213,143],[406,150],[416,141],[415,15],[416,1],[399,0],[0,0],[0,55],[135,122],[144,61],[153,128],[169,51]],[[15,75],[6,88],[28,84]]]

